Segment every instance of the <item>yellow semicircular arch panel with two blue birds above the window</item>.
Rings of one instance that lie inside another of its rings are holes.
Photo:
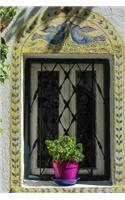
[[[62,34],[59,30],[61,25]],[[51,9],[48,14],[38,12],[21,29],[23,31],[17,36],[15,45],[21,44],[19,49],[22,53],[98,53],[100,50],[100,53],[112,54],[123,45],[111,23],[89,9],[72,9],[68,15],[58,9]],[[54,37],[58,39],[54,41]],[[80,37],[84,37],[83,40]]]

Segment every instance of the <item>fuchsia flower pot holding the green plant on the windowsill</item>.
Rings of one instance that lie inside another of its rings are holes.
[[[64,180],[75,180],[78,173],[78,162],[58,162],[53,161],[55,178]]]

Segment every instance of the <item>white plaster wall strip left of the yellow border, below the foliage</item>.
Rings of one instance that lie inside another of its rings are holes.
[[[9,110],[10,110],[10,82],[6,81],[0,88],[2,107],[3,135],[0,137],[0,191],[9,190]]]

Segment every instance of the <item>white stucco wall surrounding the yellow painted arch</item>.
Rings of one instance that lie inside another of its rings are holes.
[[[11,50],[16,36],[17,30],[21,24],[27,21],[41,9],[40,7],[20,7],[17,15],[5,30],[4,34],[9,44],[10,54],[8,61],[11,62]],[[125,7],[93,7],[93,10],[98,11],[101,15],[106,17],[121,34],[125,43]],[[0,137],[0,191],[9,191],[9,117],[10,117],[10,99],[11,99],[11,83],[9,80],[4,85],[0,86],[0,111],[2,111],[2,126],[4,129],[3,135]]]

